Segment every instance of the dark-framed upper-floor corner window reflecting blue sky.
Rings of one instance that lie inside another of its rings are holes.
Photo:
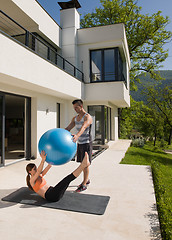
[[[119,48],[90,51],[91,82],[125,81]]]

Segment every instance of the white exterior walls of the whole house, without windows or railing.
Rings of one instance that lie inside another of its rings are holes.
[[[84,100],[85,110],[90,105],[111,108],[112,139],[117,140],[118,107],[130,104],[130,59],[124,25],[80,29],[77,10],[67,9],[61,11],[59,27],[35,0],[2,0],[2,3],[9,16],[14,16],[21,25],[23,21],[29,31],[36,31],[61,48],[63,56],[84,72],[86,81],[81,83],[0,33],[0,91],[31,97],[31,154],[38,156],[39,138],[46,130],[57,127],[57,103],[60,103],[60,127],[65,128],[76,115],[72,106],[76,98]],[[128,88],[123,82],[90,84],[90,50],[112,47],[119,47]]]

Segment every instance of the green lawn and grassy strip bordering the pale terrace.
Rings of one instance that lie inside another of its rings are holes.
[[[121,164],[150,165],[163,240],[172,240],[172,154],[147,143],[130,147]]]

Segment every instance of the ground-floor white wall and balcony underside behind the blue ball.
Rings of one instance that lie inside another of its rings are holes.
[[[1,77],[0,77],[1,80]],[[57,103],[60,103],[60,127],[65,128],[74,116],[71,101],[1,83],[0,91],[31,97],[31,155],[38,157],[38,142],[44,132],[57,127]],[[49,112],[46,113],[46,109]]]

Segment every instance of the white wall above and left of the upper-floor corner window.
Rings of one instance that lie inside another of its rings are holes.
[[[121,57],[129,69],[130,59],[124,24],[78,30],[78,64],[83,69],[86,82],[90,82],[90,50],[114,47],[119,47]],[[127,79],[129,82],[129,78]]]

